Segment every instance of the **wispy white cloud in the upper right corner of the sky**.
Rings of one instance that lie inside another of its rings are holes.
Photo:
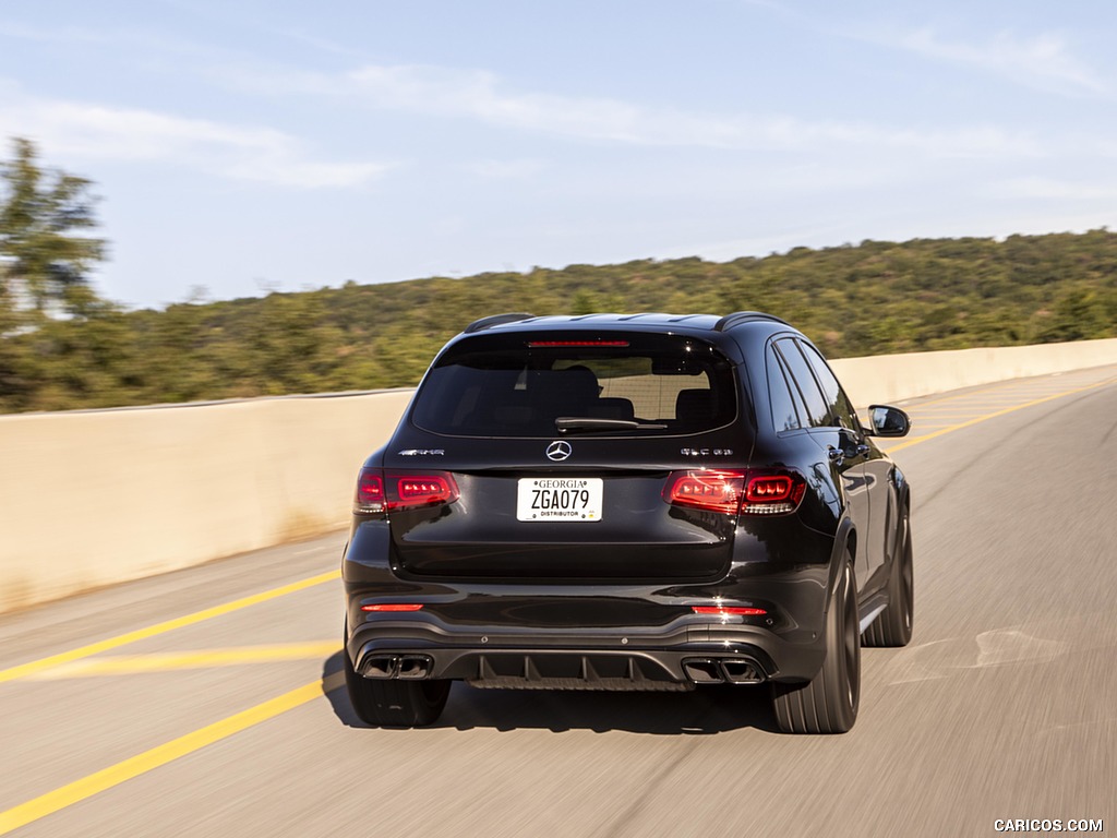
[[[857,37],[917,55],[996,73],[1012,82],[1075,96],[1105,96],[1108,85],[1070,53],[1054,32],[1018,38],[1000,32],[985,42],[948,40],[930,28],[911,31],[872,29]]]

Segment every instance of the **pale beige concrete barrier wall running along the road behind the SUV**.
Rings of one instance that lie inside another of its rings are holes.
[[[1117,340],[834,362],[860,406],[1117,363]],[[0,611],[344,526],[411,390],[0,417]]]

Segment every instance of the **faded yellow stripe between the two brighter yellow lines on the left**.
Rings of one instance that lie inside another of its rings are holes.
[[[178,669],[208,669],[218,666],[266,664],[276,660],[307,660],[330,657],[341,650],[336,640],[273,646],[239,646],[226,649],[198,651],[163,651],[152,655],[114,655],[112,657],[83,658],[59,664],[49,669],[25,676],[28,680],[56,680],[86,678],[98,675],[136,675]]]

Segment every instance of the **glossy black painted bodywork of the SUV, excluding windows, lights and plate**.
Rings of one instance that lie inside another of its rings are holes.
[[[378,656],[413,655],[429,659],[427,677],[480,686],[691,688],[701,683],[695,677],[700,666],[688,668],[688,661],[716,658],[750,661],[758,680],[813,677],[824,655],[827,602],[847,551],[857,555],[862,609],[887,601],[881,597],[907,486],[871,437],[859,437],[863,450],[836,464],[829,449],[846,442],[836,442],[834,429],[775,430],[765,352],[774,337],[805,340],[799,332],[772,318],[716,331],[716,321],[547,317],[451,341],[443,353],[464,341],[490,340],[490,333],[564,341],[681,335],[732,365],[735,418],[681,435],[456,437],[417,427],[412,406],[365,466],[446,472],[460,497],[354,516],[342,571],[346,653],[355,669]],[[572,451],[556,463],[545,451],[560,439]],[[672,473],[761,467],[805,478],[793,513],[733,515],[663,499]],[[517,480],[542,476],[601,478],[601,520],[518,521]],[[361,610],[378,603],[422,609]],[[693,610],[718,603],[766,613]]]

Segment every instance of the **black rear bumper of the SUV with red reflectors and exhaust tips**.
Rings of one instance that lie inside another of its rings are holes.
[[[386,524],[364,522],[354,526],[342,561],[346,653],[365,677],[690,689],[718,682],[809,680],[825,654],[824,559],[792,563],[763,553],[765,561],[734,562],[724,578],[705,582],[531,582],[405,574],[392,566],[388,545]],[[822,551],[814,552],[821,559]],[[362,610],[401,603],[421,609]],[[765,613],[694,611],[712,604]]]

